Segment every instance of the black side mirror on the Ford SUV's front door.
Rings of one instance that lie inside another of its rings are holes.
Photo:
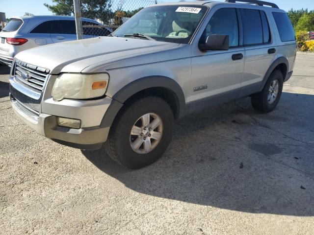
[[[200,50],[228,50],[229,35],[210,34],[205,43],[199,43]]]

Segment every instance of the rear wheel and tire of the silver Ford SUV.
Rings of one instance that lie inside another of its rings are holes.
[[[277,106],[281,94],[283,92],[283,74],[279,70],[273,71],[263,90],[260,93],[253,94],[251,96],[251,102],[252,106],[256,110],[260,110],[264,113],[269,113],[274,110],[274,108]],[[276,89],[276,82],[278,85],[278,89]],[[275,86],[274,86],[275,85]],[[271,86],[275,87],[275,89],[272,89]],[[277,94],[276,94],[277,90]],[[276,97],[274,98],[274,95],[276,94]]]

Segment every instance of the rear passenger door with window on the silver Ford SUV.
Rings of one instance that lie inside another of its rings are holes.
[[[245,69],[240,96],[259,92],[263,77],[276,55],[269,21],[263,10],[240,9],[245,47]]]

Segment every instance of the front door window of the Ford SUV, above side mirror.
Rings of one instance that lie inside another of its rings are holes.
[[[210,34],[229,35],[229,46],[239,45],[238,24],[235,8],[217,10],[210,18],[205,29],[206,38]]]

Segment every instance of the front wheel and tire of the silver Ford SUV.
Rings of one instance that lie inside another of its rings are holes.
[[[169,104],[162,98],[148,96],[135,99],[126,104],[119,112],[110,128],[108,140],[105,142],[105,150],[115,162],[130,169],[138,169],[152,164],[161,157],[172,139],[173,119],[173,112]],[[147,120],[149,120],[149,125],[144,130],[144,124],[148,123]],[[157,120],[155,123],[159,123],[154,130],[152,128],[156,124],[153,123],[153,120]],[[136,127],[134,128],[134,126]],[[131,135],[131,131],[136,135]],[[139,133],[143,133],[143,135]],[[146,138],[145,141],[144,138]],[[159,140],[157,140],[158,138]],[[139,143],[141,145],[137,148]],[[147,152],[148,150],[149,152]]]

